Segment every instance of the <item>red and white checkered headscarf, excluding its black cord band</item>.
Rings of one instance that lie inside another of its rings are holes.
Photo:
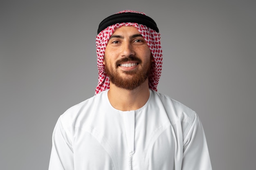
[[[125,12],[141,13],[138,11],[130,11],[130,10],[120,11],[118,13],[125,13]],[[145,13],[141,13],[141,14],[146,15]],[[109,89],[110,79],[106,74],[106,72],[104,71],[105,66],[103,65],[104,54],[105,54],[105,49],[108,44],[108,40],[110,36],[114,33],[115,29],[121,26],[135,26],[139,31],[139,33],[146,40],[148,47],[154,57],[152,73],[148,77],[148,86],[149,88],[152,88],[153,90],[157,91],[157,84],[161,76],[162,60],[163,60],[162,46],[160,43],[160,33],[157,33],[155,30],[150,29],[149,27],[142,24],[124,22],[124,23],[117,23],[117,24],[108,26],[106,29],[101,31],[96,37],[97,66],[99,71],[99,79],[98,79],[98,86],[96,87],[96,90],[95,90],[95,95]]]

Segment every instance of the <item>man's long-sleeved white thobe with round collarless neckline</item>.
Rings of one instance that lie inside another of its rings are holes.
[[[143,107],[120,111],[106,90],[59,117],[49,170],[211,170],[211,161],[195,111],[153,90]]]

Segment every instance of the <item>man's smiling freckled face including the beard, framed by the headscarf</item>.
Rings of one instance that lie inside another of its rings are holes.
[[[121,26],[106,46],[105,71],[117,87],[132,90],[148,78],[153,56],[148,44],[134,26]]]

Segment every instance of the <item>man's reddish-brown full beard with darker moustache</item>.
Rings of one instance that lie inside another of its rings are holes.
[[[153,57],[153,56],[151,56]],[[151,59],[151,58],[150,58]],[[126,90],[133,90],[140,86],[142,83],[146,81],[148,76],[151,73],[151,65],[152,61],[149,60],[146,63],[142,63],[142,68],[140,70],[131,70],[131,71],[122,71],[127,76],[121,76],[117,71],[117,68],[120,66],[122,62],[135,61],[137,64],[141,64],[141,60],[135,56],[129,56],[118,60],[115,64],[115,69],[111,66],[108,66],[108,63],[105,64],[105,72],[107,73],[110,82],[115,84],[119,88],[124,88]]]

